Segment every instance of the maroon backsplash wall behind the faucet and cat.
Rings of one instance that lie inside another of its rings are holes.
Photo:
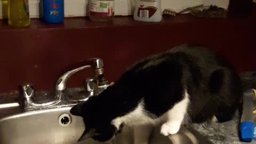
[[[64,25],[46,25],[34,19],[29,28],[8,27],[0,21],[0,93],[17,91],[25,82],[34,83],[36,91],[52,91],[67,67],[93,57],[103,59],[106,78],[116,81],[133,62],[182,43],[209,45],[238,71],[252,70],[255,27],[255,17],[230,20],[190,15],[164,17],[161,23],[116,17],[112,23],[73,18]],[[78,72],[68,86],[82,85],[90,76],[90,69]]]

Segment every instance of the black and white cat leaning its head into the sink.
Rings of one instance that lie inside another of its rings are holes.
[[[250,75],[244,75],[246,81]],[[228,121],[245,89],[243,78],[224,58],[203,47],[180,45],[139,61],[70,113],[84,118],[86,130],[79,140],[108,141],[129,125],[135,127],[134,143],[142,144],[156,123],[162,123],[161,133],[167,136],[182,123]]]

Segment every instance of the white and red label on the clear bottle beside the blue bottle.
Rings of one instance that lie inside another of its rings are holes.
[[[90,15],[94,17],[110,17],[114,15],[114,1],[98,1],[98,0],[90,0],[89,2],[89,10]]]

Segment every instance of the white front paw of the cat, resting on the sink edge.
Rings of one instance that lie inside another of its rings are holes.
[[[180,125],[177,123],[174,124],[167,124],[164,123],[161,127],[161,134],[163,134],[164,136],[168,136],[170,134],[176,134],[180,129]]]

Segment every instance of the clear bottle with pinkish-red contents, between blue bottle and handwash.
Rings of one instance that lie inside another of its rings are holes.
[[[114,0],[89,0],[89,17],[92,21],[111,21],[114,9]]]

